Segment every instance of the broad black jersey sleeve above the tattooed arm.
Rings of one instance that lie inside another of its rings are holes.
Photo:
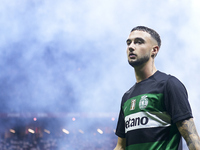
[[[187,90],[177,78],[171,76],[168,79],[165,92],[165,106],[172,123],[193,117]]]

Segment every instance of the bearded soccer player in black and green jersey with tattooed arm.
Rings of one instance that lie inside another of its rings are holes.
[[[200,150],[186,88],[155,67],[159,34],[137,26],[126,43],[136,83],[122,97],[115,150],[181,150],[181,137],[190,150]]]

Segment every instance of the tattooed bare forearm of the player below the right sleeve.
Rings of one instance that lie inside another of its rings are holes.
[[[198,136],[194,121],[192,118],[176,123],[177,128],[185,139],[190,150],[200,150],[200,138]]]

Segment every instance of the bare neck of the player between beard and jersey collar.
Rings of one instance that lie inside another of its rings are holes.
[[[134,69],[137,83],[149,78],[157,71],[154,64],[134,67]]]

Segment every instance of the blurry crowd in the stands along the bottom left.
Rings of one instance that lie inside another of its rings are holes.
[[[111,150],[115,147],[115,135],[69,136],[60,138],[0,139],[0,150]]]

